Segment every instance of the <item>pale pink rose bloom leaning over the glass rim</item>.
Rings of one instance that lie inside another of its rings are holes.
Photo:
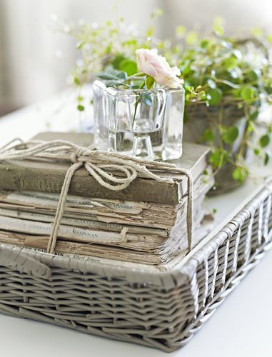
[[[178,67],[171,67],[165,57],[160,56],[156,49],[137,49],[136,59],[138,70],[153,77],[161,86],[181,87],[183,81],[178,78],[181,71]]]

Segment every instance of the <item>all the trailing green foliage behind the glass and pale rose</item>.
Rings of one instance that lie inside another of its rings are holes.
[[[154,20],[158,16],[161,16],[160,10],[151,17]],[[254,29],[248,39],[225,36],[221,18],[214,20],[210,36],[203,37],[197,31],[178,26],[176,39],[172,41],[157,39],[154,23],[146,34],[140,36],[136,27],[126,26],[124,19],[118,25],[112,21],[107,21],[104,26],[71,23],[61,24],[61,29],[74,36],[76,48],[82,54],[82,61],[71,72],[79,89],[80,111],[84,110],[81,87],[96,72],[106,70],[112,74],[112,71],[119,71],[118,75],[115,72],[114,76],[108,77],[109,85],[148,89],[149,80],[141,76],[135,79],[134,54],[138,48],[156,47],[171,65],[178,64],[181,69],[186,90],[185,119],[193,120],[193,108],[205,112],[206,130],[200,141],[211,146],[213,169],[217,172],[231,164],[233,179],[243,182],[249,173],[245,160],[248,149],[268,164],[271,123],[265,125],[257,140],[252,138],[258,134],[258,114],[263,104],[272,104],[271,61],[268,61],[266,47],[272,41],[271,36],[265,36],[260,29]],[[233,119],[231,124],[226,121],[229,108],[233,109],[234,119],[245,117],[243,130],[236,120]],[[238,138],[241,140],[239,149],[233,152],[233,144]]]

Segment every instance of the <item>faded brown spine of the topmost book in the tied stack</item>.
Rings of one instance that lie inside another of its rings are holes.
[[[4,162],[0,163],[0,190],[60,193],[65,175],[64,169],[46,170],[28,166],[27,163],[23,166]],[[177,182],[164,183],[146,178],[136,179],[122,191],[112,191],[101,186],[85,169],[76,171],[69,193],[91,198],[166,204],[178,203],[181,194]]]

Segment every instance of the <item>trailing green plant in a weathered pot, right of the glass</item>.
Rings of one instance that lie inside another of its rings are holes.
[[[181,29],[179,29],[181,34]],[[186,31],[183,29],[183,38]],[[209,144],[216,175],[216,193],[228,191],[246,180],[248,149],[268,164],[266,148],[271,123],[253,144],[258,114],[264,103],[272,104],[272,75],[268,51],[260,39],[223,36],[221,21],[213,35],[201,38],[189,33],[191,44],[175,48],[175,56],[190,87],[201,86],[202,98],[186,96],[186,139]]]

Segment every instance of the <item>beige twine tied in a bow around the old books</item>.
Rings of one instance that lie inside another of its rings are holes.
[[[193,178],[190,171],[163,161],[136,159],[112,151],[100,151],[81,147],[64,140],[46,142],[28,141],[10,146],[10,144],[18,140],[19,139],[14,139],[0,149],[0,161],[34,158],[49,159],[52,161],[71,161],[71,166],[66,171],[64,183],[61,188],[56,215],[47,246],[48,253],[54,254],[71,179],[74,173],[81,167],[84,167],[101,186],[109,188],[112,191],[124,190],[136,177],[150,178],[158,182],[174,183],[172,178],[158,176],[160,171],[185,175],[188,182],[186,216],[187,239],[188,249],[191,251],[193,234]]]

